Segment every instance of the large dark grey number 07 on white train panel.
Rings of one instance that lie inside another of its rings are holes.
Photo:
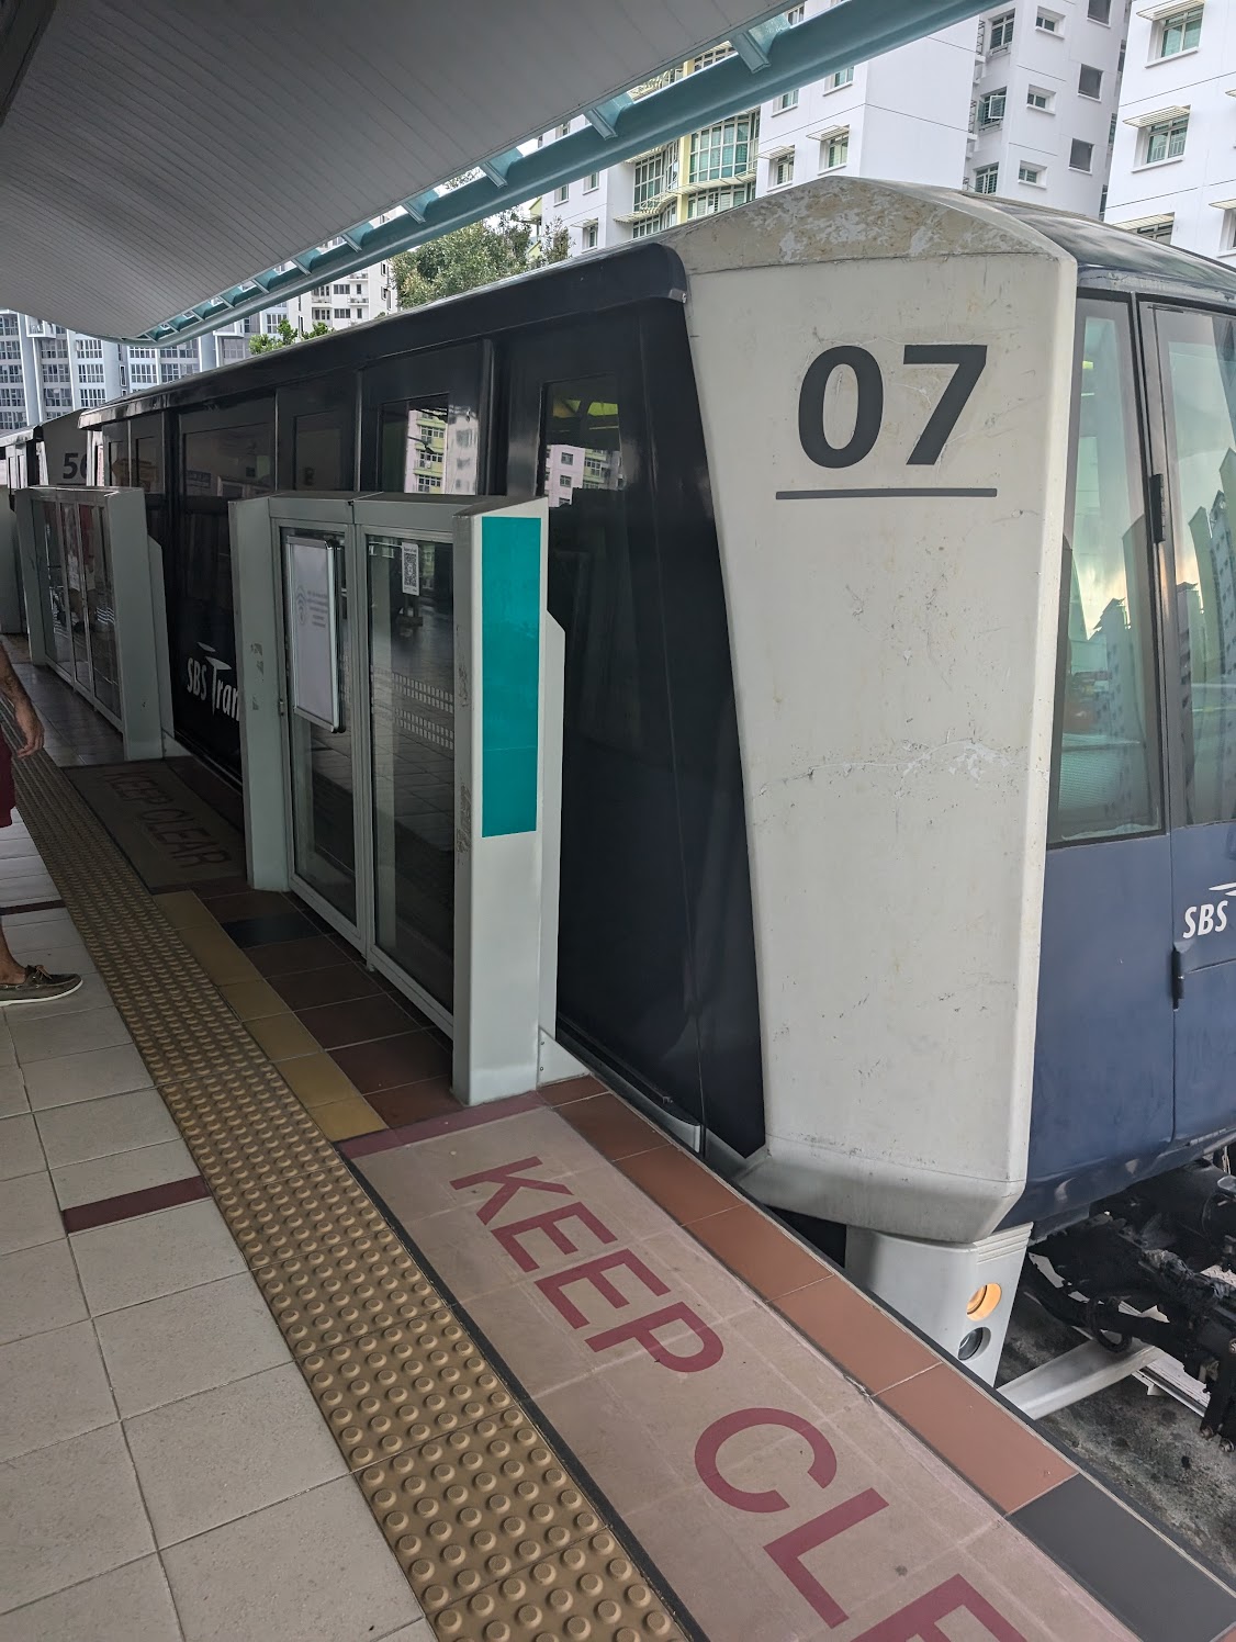
[[[949,433],[957,427],[957,419],[975,391],[975,383],[983,374],[987,345],[982,342],[908,343],[904,363],[955,366],[936,409],[927,417],[927,425],[906,458],[906,466],[931,466],[932,461],[939,461]],[[824,392],[832,373],[842,366],[854,371],[858,407],[849,440],[844,445],[832,445],[824,432]],[[798,438],[814,463],[821,468],[852,468],[855,461],[862,461],[870,453],[880,437],[883,419],[885,381],[875,356],[867,348],[827,348],[811,361],[798,396]]]

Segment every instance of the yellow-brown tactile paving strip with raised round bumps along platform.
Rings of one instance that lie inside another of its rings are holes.
[[[71,783],[46,754],[16,773],[21,818],[438,1637],[683,1642]]]

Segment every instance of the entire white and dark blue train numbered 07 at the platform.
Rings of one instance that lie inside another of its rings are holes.
[[[36,443],[233,773],[228,496],[552,493],[560,1038],[987,1378],[1029,1250],[1236,1435],[1229,269],[829,179]]]

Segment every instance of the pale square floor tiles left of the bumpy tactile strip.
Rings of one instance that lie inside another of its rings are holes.
[[[69,915],[5,928],[87,980],[0,1011],[0,1642],[432,1642],[215,1205],[66,1236],[192,1159]]]

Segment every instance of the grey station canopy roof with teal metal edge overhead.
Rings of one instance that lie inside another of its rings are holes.
[[[0,0],[0,307],[187,338],[980,5]]]

